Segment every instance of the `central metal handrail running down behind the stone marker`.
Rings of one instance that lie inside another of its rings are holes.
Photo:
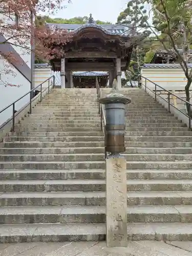
[[[106,126],[106,118],[105,118],[105,113],[104,113],[104,108],[103,108],[103,104],[101,104],[99,102],[100,98],[102,97],[102,91],[101,88],[99,86],[98,81],[96,80],[96,89],[97,89],[97,101],[98,101],[98,108],[99,108],[99,114],[101,117],[101,131],[103,131],[103,135],[104,135],[104,157],[107,157],[107,152],[105,150],[105,146],[106,146],[106,136],[105,136],[105,126]]]

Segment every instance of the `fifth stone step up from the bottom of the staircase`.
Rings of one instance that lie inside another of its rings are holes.
[[[102,180],[105,179],[104,169],[63,169],[63,170],[19,170],[19,169],[2,169],[0,173],[1,180]],[[161,170],[161,169],[137,169],[127,170],[126,177],[128,180],[188,180],[192,178],[191,170]]]

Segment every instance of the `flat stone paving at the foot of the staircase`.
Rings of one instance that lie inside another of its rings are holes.
[[[0,244],[0,256],[192,256],[192,242],[129,242],[107,248],[105,242]]]

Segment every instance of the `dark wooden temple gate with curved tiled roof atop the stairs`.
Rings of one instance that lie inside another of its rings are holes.
[[[107,76],[110,87],[116,78],[117,86],[121,88],[121,72],[129,66],[134,44],[131,27],[97,25],[91,14],[88,23],[84,25],[47,25],[67,30],[71,35],[66,45],[59,45],[65,50],[65,55],[62,58],[54,56],[51,61],[53,71],[60,71],[62,89],[93,87],[95,77],[98,77],[101,86],[104,86],[105,81],[108,80]],[[95,72],[98,71],[104,73],[95,76]],[[90,76],[89,73],[87,76],[80,74],[73,76],[73,72],[92,72],[92,75]]]

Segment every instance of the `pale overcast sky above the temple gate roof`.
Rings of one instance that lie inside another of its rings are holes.
[[[127,0],[71,0],[67,8],[58,11],[54,17],[73,18],[89,16],[92,13],[94,20],[116,23],[121,11],[126,8]],[[67,2],[67,1],[66,1]]]

